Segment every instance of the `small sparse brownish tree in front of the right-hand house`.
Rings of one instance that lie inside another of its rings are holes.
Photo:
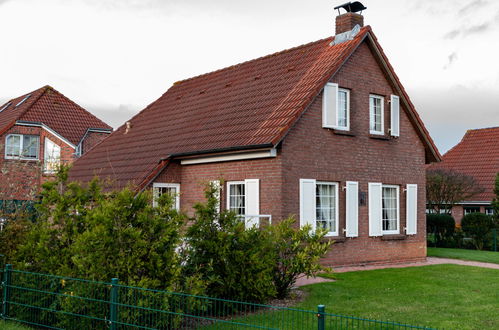
[[[479,194],[483,189],[469,175],[443,169],[426,171],[426,200],[435,213],[450,214],[457,203]]]

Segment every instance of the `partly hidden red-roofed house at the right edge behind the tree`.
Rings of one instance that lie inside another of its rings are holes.
[[[442,157],[442,162],[431,169],[446,169],[473,177],[483,189],[480,194],[462,201],[451,210],[456,224],[473,212],[493,214],[494,184],[499,173],[499,127],[473,129],[466,132],[457,145]]]

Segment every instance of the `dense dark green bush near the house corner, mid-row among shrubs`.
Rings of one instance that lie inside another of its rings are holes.
[[[184,249],[188,275],[201,274],[210,296],[265,302],[276,295],[275,259],[268,235],[258,228],[246,229],[233,212],[219,214],[215,193],[209,186],[207,203],[194,206],[196,214]]]

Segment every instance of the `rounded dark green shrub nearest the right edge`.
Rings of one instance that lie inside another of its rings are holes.
[[[490,233],[496,227],[495,221],[492,216],[483,213],[470,213],[463,217],[461,220],[461,228],[465,236],[472,239],[473,246],[477,250],[490,244]]]

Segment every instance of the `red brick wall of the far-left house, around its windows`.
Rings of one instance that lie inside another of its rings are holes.
[[[40,137],[38,160],[5,159],[5,139],[9,134],[29,134]],[[61,162],[70,164],[74,149],[59,138],[40,127],[14,126],[0,136],[0,199],[31,200],[40,189],[40,184],[52,178],[43,173],[45,138],[61,147]]]

